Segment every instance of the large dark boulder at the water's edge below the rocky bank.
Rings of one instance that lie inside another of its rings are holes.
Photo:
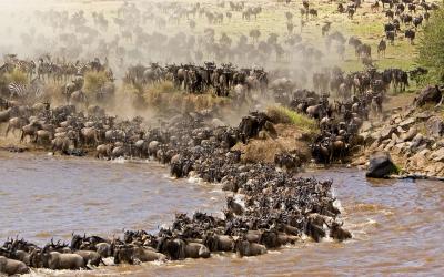
[[[365,173],[366,177],[384,178],[396,173],[397,168],[387,152],[377,152],[370,156],[370,165]]]

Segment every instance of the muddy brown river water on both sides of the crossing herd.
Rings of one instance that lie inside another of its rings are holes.
[[[72,232],[110,236],[122,228],[155,230],[175,212],[219,214],[220,187],[172,179],[154,162],[102,162],[0,152],[0,240],[43,243]],[[38,270],[46,276],[282,276],[426,275],[444,271],[444,184],[428,181],[369,182],[356,170],[304,173],[332,178],[345,227],[353,239],[300,243],[260,257],[213,255],[93,271]]]

